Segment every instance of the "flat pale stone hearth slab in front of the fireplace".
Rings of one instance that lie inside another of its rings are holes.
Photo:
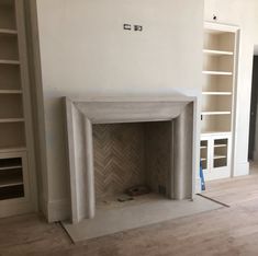
[[[200,196],[193,201],[161,199],[134,207],[97,210],[94,219],[86,219],[78,224],[63,222],[63,225],[76,243],[220,208],[223,208],[220,203]]]

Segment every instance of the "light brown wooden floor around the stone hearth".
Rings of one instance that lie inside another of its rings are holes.
[[[258,170],[258,168],[257,168]],[[228,203],[188,218],[74,245],[58,223],[30,214],[0,220],[0,255],[258,255],[258,175],[207,184],[205,196]]]

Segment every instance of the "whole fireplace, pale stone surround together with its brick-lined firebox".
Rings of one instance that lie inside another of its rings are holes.
[[[192,199],[195,100],[65,98],[72,223],[123,203],[135,186],[149,198]]]

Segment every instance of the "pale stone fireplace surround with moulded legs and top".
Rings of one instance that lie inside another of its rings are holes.
[[[93,132],[96,124],[171,123],[167,197],[192,199],[195,181],[197,97],[64,98],[68,137],[71,221],[96,216]]]

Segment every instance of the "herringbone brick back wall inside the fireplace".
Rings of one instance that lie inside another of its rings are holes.
[[[145,184],[142,124],[94,125],[93,147],[97,198]]]

